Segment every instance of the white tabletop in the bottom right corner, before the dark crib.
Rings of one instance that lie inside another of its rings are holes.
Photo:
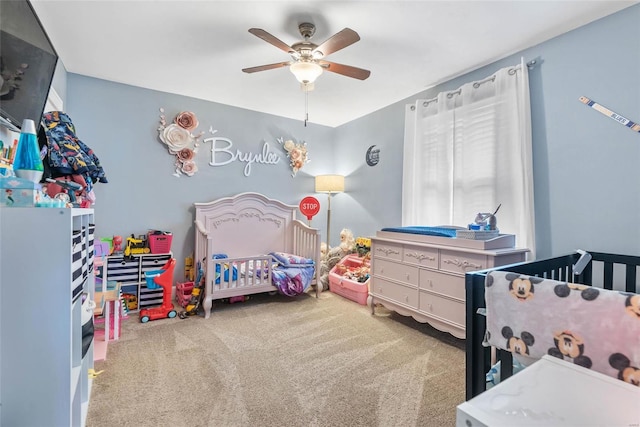
[[[637,425],[640,387],[548,355],[456,413],[457,427]]]

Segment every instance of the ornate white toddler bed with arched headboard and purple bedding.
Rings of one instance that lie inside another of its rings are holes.
[[[315,284],[320,231],[296,219],[297,206],[241,193],[195,203],[195,209],[194,259],[204,269],[205,318],[214,300],[262,292],[295,296]]]

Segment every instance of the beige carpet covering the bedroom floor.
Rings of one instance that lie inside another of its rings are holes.
[[[454,426],[464,341],[324,292],[124,321],[87,426]]]

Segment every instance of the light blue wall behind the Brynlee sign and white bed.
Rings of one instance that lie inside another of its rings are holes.
[[[302,197],[314,194],[315,175],[334,172],[336,130],[330,127],[304,127],[302,121],[72,73],[67,86],[65,110],[109,180],[95,186],[96,233],[127,236],[148,229],[172,231],[172,250],[180,268],[184,257],[193,252],[194,202],[253,191],[298,205]],[[266,141],[281,160],[276,165],[254,163],[245,176],[242,162],[210,166],[211,144],[202,144],[196,157],[199,171],[193,177],[174,177],[175,157],[158,139],[161,107],[168,122],[180,111],[194,112],[200,121],[197,130],[205,131],[206,138],[213,127],[215,136],[233,142],[234,152],[261,153]],[[307,143],[310,162],[295,178],[277,142],[280,137]],[[312,225],[321,227],[325,221],[322,211]]]

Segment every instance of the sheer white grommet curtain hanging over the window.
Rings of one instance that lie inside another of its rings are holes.
[[[524,62],[407,105],[403,225],[467,226],[493,211],[535,258],[531,107]]]

